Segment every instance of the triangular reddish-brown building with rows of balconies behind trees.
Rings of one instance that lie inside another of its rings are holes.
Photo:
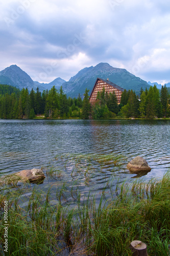
[[[102,78],[96,79],[96,82],[89,97],[90,103],[95,102],[98,92],[101,92],[103,90],[103,87],[105,88],[105,92],[107,92],[108,94],[115,92],[117,97],[117,103],[119,104],[124,89],[117,86],[115,83],[110,82],[109,79],[105,80]]]

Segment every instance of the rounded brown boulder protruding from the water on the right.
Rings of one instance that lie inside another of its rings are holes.
[[[127,164],[127,168],[130,170],[130,172],[149,172],[151,170],[151,167],[148,165],[147,161],[140,156],[137,156],[130,161]]]

